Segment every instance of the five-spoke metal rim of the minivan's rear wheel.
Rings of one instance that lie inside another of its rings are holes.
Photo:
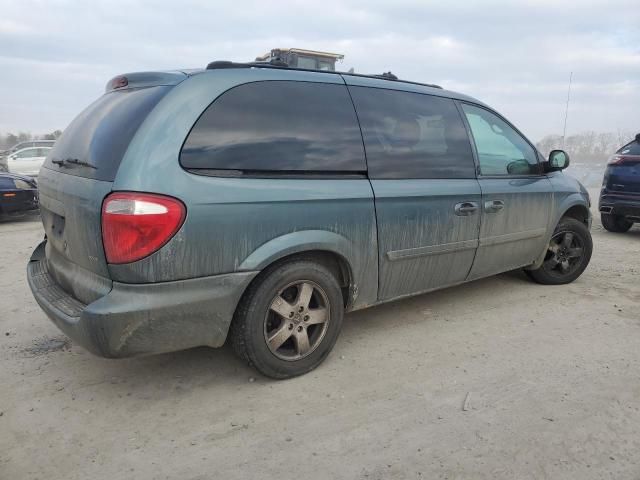
[[[331,320],[324,290],[314,282],[292,282],[271,300],[264,319],[264,339],[271,353],[295,361],[320,346]]]

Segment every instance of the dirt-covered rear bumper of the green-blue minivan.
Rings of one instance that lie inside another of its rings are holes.
[[[109,293],[85,305],[49,273],[45,243],[27,267],[36,301],[74,342],[108,358],[221,346],[242,293],[258,273],[152,284],[113,282]]]

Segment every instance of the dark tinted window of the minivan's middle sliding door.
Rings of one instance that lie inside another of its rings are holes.
[[[453,100],[349,87],[371,178],[475,178],[471,144]]]

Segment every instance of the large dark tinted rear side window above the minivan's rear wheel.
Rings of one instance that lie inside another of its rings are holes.
[[[264,81],[222,94],[180,154],[188,169],[364,172],[358,120],[344,85]]]

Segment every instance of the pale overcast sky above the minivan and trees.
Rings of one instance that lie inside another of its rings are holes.
[[[640,131],[638,0],[0,0],[0,132],[63,129],[118,73],[274,47],[461,91],[534,141],[562,132],[573,71],[568,134]]]

